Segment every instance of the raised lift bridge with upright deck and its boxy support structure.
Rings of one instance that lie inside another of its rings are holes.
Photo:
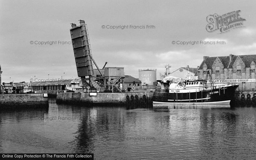
[[[113,68],[108,68],[108,75],[104,76],[104,67],[99,69],[91,54],[90,40],[87,25],[84,20],[79,20],[80,26],[71,23],[70,29],[72,45],[74,49],[76,69],[78,76],[81,77],[85,88],[91,88],[98,91],[118,91],[123,90],[124,69],[118,68],[112,75]],[[94,68],[94,65],[97,69]],[[123,73],[122,73],[123,72]]]

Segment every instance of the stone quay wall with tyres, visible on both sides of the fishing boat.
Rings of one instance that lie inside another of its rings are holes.
[[[153,92],[122,92],[122,93],[97,93],[97,96],[90,96],[87,92],[58,92],[57,103],[77,104],[129,104],[129,105],[152,105]],[[255,91],[236,91],[233,104],[256,105]]]

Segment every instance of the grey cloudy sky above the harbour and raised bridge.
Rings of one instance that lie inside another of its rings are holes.
[[[48,79],[48,75],[49,79],[77,77],[71,44],[38,43],[70,43],[70,23],[79,25],[79,19],[88,26],[91,53],[99,68],[107,61],[106,67],[124,67],[125,75],[135,78],[143,68],[156,68],[159,78],[166,64],[172,65],[170,71],[187,65],[196,68],[203,56],[255,54],[255,8],[253,0],[0,0],[2,82],[10,77],[14,82]],[[243,27],[223,34],[206,31],[208,15],[237,10],[245,19]],[[145,28],[109,28],[120,25]],[[180,45],[177,41],[225,44]]]

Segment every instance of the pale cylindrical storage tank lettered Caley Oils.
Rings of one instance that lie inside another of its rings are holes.
[[[157,69],[139,69],[139,80],[142,85],[153,85],[157,81]]]

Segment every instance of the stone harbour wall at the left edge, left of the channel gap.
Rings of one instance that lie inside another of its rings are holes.
[[[49,107],[44,94],[0,94],[0,110],[5,108]]]

